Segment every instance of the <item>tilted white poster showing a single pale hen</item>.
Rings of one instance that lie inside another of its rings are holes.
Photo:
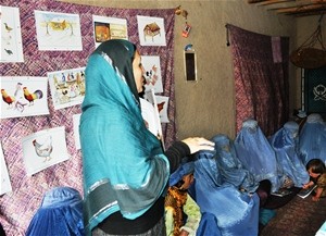
[[[28,176],[68,160],[64,126],[43,129],[23,138],[24,164]]]

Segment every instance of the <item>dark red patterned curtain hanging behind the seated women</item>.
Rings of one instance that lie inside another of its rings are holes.
[[[289,38],[226,25],[230,36],[236,91],[236,132],[254,119],[266,136],[289,117]]]

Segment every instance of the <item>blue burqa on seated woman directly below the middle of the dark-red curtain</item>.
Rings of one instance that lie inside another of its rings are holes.
[[[238,159],[254,175],[255,181],[268,179],[272,191],[277,191],[281,183],[278,179],[276,153],[258,122],[244,121],[234,144]]]

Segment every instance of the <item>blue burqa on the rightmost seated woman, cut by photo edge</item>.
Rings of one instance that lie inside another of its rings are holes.
[[[300,132],[300,158],[303,164],[311,159],[321,159],[326,163],[326,124],[321,114],[306,117]]]

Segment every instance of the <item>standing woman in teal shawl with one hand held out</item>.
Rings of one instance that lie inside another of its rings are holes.
[[[185,156],[214,148],[187,138],[163,152],[141,116],[142,73],[127,40],[108,40],[88,60],[79,127],[87,235],[165,235],[170,174]]]

